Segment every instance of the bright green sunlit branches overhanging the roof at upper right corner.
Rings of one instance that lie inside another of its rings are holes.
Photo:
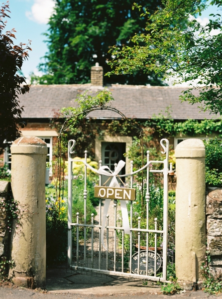
[[[220,9],[222,0],[211,4]],[[133,46],[111,48],[115,58],[109,62],[113,70],[108,75],[142,70],[165,73],[165,78],[174,76],[190,84],[182,100],[222,114],[222,33],[212,33],[221,30],[222,20],[218,13],[206,25],[197,22],[195,16],[206,6],[202,0],[163,0],[163,5],[150,14],[135,4],[141,15],[148,17],[146,32],[131,38]],[[186,18],[189,24],[182,22]]]

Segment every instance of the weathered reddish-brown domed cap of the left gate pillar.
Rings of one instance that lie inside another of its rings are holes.
[[[32,153],[32,154],[47,154],[48,149],[46,143],[33,136],[24,136],[16,139],[11,148],[11,153]]]

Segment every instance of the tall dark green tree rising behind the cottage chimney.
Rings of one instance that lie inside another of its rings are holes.
[[[142,9],[153,13],[161,0],[139,0]],[[89,83],[96,62],[111,70],[107,59],[112,45],[130,44],[135,32],[145,31],[147,16],[132,10],[133,0],[56,0],[55,11],[45,33],[48,53],[37,78],[41,84]],[[33,77],[34,78],[34,77]],[[107,83],[161,85],[161,74],[135,71],[105,78]]]

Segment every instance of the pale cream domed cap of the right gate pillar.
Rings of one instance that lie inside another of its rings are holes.
[[[201,139],[191,138],[179,143],[175,149],[176,158],[205,157],[205,145]]]

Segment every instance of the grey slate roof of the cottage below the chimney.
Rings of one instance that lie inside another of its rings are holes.
[[[20,95],[21,106],[24,106],[22,117],[25,119],[53,118],[55,112],[63,107],[77,107],[75,102],[77,94],[89,90],[95,95],[102,87],[91,84],[73,85],[34,85],[28,94]],[[198,105],[191,105],[179,100],[184,87],[159,87],[139,85],[108,86],[114,101],[111,107],[121,111],[128,118],[149,119],[159,113],[165,112],[170,107],[170,115],[173,119],[212,119],[216,116],[209,112],[199,112]],[[90,113],[95,118],[119,118],[119,115],[111,111],[101,110]]]

